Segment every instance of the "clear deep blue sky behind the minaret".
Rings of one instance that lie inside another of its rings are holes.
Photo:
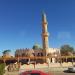
[[[42,46],[42,13],[46,13],[49,47],[75,48],[75,0],[0,0],[0,55],[6,49]]]

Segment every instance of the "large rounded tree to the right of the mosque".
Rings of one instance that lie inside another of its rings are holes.
[[[69,45],[63,45],[60,48],[60,53],[62,56],[72,55],[74,52],[74,48]]]

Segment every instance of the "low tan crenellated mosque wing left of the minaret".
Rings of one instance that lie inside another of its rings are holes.
[[[33,50],[33,49],[17,49],[15,51],[15,57],[33,57],[33,56],[43,56],[43,50]]]

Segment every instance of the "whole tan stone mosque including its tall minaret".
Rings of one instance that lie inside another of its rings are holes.
[[[48,22],[46,19],[46,14],[42,14],[42,48],[40,50],[34,50],[34,49],[17,49],[15,52],[15,57],[23,57],[23,56],[55,56],[57,57],[60,54],[60,49],[58,48],[49,48],[49,33],[48,33]],[[51,58],[49,60],[50,62],[56,62],[55,58]]]

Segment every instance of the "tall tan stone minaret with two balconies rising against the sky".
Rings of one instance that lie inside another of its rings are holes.
[[[43,43],[43,52],[44,52],[44,56],[47,56],[48,54],[48,48],[49,48],[49,44],[48,44],[48,30],[47,30],[47,19],[46,19],[46,14],[43,13],[42,15],[42,43]]]

